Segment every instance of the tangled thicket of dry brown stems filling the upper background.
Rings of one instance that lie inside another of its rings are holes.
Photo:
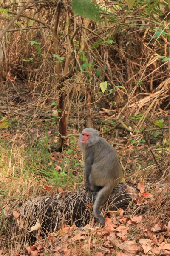
[[[67,106],[74,101],[78,110],[82,109],[83,104],[80,102],[83,103],[88,84],[92,85],[92,103],[96,108],[99,105],[114,108],[113,102],[122,107],[128,100],[128,110],[152,102],[155,97],[156,105],[169,108],[167,92],[170,64],[168,60],[161,61],[163,56],[168,56],[169,41],[164,36],[166,17],[155,18],[159,6],[153,4],[150,6],[150,16],[144,16],[142,13],[149,8],[147,5],[126,14],[125,6],[118,8],[114,2],[102,4],[105,6],[105,18],[101,25],[85,19],[82,22],[81,18],[74,17],[69,2],[62,6],[58,21],[57,51],[52,31],[57,22],[57,2],[49,0],[42,1],[37,6],[30,5],[24,13],[26,17],[21,15],[1,42],[1,56],[4,56],[4,47],[6,53],[6,58],[1,59],[1,63],[6,64],[3,65],[3,76],[6,79],[11,76],[24,80],[33,92],[42,92],[40,99],[45,95],[48,98],[52,95],[53,99],[57,99],[59,90],[65,90]],[[7,4],[3,8],[11,9],[11,13],[14,13],[12,10],[17,9],[17,6],[19,7],[19,3],[16,1],[15,5]],[[7,24],[8,16],[1,15],[6,19],[4,24]],[[103,26],[105,19],[107,26]],[[31,46],[30,41],[36,43]],[[71,79],[68,77],[62,84],[62,89],[56,81],[56,65],[63,72],[66,66],[72,72]],[[107,97],[99,89],[102,81],[108,81],[111,84],[108,89],[113,89],[113,93]],[[115,86],[123,86],[125,89]],[[145,93],[152,95],[138,102],[139,97],[144,97]]]

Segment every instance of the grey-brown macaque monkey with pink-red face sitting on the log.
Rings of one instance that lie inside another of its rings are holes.
[[[94,216],[105,225],[100,207],[121,181],[122,167],[116,150],[99,137],[99,132],[93,128],[85,128],[82,131],[79,147],[85,159],[85,186],[91,191],[98,191],[94,202]]]

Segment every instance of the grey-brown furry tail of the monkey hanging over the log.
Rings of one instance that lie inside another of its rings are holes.
[[[108,199],[109,195],[113,191],[113,184],[108,184],[104,186],[97,194],[96,200],[94,202],[94,217],[97,218],[101,224],[105,225],[105,218],[100,214],[100,207]]]

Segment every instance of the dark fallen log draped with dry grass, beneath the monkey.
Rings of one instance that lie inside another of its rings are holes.
[[[138,193],[136,184],[119,183],[102,206],[102,215],[119,208],[127,209]],[[96,195],[96,192],[83,188],[59,193],[52,198],[40,196],[13,202],[5,209],[8,218],[4,224],[5,233],[8,233],[8,239],[16,248],[16,244],[24,247],[35,243],[40,236],[47,237],[49,233],[63,227],[63,224],[84,226],[94,218],[93,203]],[[18,212],[17,217],[14,211]]]

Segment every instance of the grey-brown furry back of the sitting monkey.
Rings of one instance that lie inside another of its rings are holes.
[[[122,177],[122,167],[115,148],[102,138],[93,147],[92,175],[95,173],[96,183],[105,186],[108,177],[110,177],[110,182],[113,182],[116,186],[120,182],[120,177]]]

